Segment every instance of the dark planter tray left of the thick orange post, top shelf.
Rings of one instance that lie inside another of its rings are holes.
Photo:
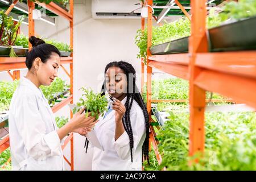
[[[170,53],[185,53],[188,52],[188,38],[181,38],[171,42],[152,46],[150,52],[152,55],[167,55]]]

